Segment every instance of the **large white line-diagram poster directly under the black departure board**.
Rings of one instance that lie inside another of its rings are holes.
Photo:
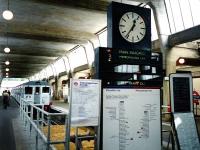
[[[103,89],[103,150],[161,150],[160,89]]]

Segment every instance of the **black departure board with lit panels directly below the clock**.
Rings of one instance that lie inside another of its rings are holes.
[[[94,64],[94,78],[102,79],[103,87],[162,86],[161,53],[99,47]]]

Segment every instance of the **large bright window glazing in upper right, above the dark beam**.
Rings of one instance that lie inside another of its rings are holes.
[[[172,33],[200,24],[199,0],[165,0],[165,3]]]

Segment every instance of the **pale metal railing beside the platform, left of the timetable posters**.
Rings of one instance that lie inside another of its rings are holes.
[[[41,107],[41,108],[40,108]],[[36,131],[36,149],[38,149],[38,138],[39,136],[46,144],[46,150],[55,149],[52,144],[64,144],[65,150],[68,147],[67,141],[67,113],[59,112],[59,113],[49,113],[44,110],[44,105],[33,104],[32,101],[27,101],[26,99],[20,99],[20,116],[22,120],[25,122],[25,126],[27,123],[30,125],[30,133],[32,127]],[[52,141],[51,140],[51,123],[52,117],[56,116],[64,116],[65,117],[65,138],[60,141]],[[36,117],[36,118],[35,118]],[[47,126],[47,135],[45,136],[44,132],[41,130],[43,127]]]

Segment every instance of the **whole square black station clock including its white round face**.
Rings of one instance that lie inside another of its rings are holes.
[[[108,47],[151,50],[151,10],[112,2],[108,7]]]

